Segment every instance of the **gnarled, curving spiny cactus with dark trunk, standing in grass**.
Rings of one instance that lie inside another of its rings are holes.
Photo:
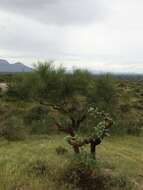
[[[74,148],[76,153],[80,152],[80,147],[90,144],[91,154],[95,158],[96,146],[102,142],[105,136],[109,135],[109,129],[113,125],[113,120],[105,112],[99,112],[97,108],[90,108],[88,114],[94,118],[101,119],[101,121],[93,128],[87,137],[81,138],[78,135],[69,135],[66,137],[66,140]]]

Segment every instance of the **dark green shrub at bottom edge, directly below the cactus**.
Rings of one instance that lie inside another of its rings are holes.
[[[110,176],[102,175],[95,160],[84,156],[71,160],[63,179],[82,190],[104,190],[108,189]]]

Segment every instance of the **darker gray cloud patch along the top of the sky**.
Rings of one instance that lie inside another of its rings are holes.
[[[87,24],[102,20],[106,0],[0,0],[0,9],[57,25]]]

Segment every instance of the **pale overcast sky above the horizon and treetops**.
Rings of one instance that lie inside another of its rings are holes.
[[[143,0],[0,0],[0,58],[143,73]]]

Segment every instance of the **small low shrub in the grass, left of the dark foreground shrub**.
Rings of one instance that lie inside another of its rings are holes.
[[[45,160],[34,160],[26,168],[29,176],[46,177],[50,174],[49,164]]]

